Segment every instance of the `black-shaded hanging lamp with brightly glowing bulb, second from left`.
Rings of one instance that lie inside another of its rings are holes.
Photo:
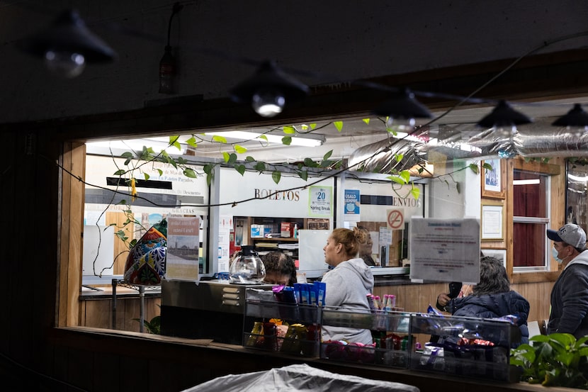
[[[274,62],[266,61],[254,76],[230,91],[233,101],[251,103],[260,116],[273,117],[283,111],[286,103],[303,99],[309,88],[285,74]]]

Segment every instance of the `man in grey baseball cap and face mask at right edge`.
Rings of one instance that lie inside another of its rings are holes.
[[[586,233],[568,223],[559,230],[547,230],[553,241],[551,254],[563,266],[551,289],[551,312],[547,333],[588,335],[588,251]]]

